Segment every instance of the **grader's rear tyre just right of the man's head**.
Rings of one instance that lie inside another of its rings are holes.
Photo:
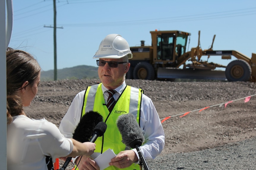
[[[138,63],[134,67],[133,78],[141,80],[154,80],[155,71],[153,66],[147,62]]]

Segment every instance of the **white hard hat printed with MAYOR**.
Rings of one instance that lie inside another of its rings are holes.
[[[132,58],[128,42],[119,34],[109,34],[99,44],[99,49],[93,59],[120,59],[126,55],[128,55],[128,59]]]

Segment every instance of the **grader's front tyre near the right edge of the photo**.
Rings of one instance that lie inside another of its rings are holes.
[[[248,81],[252,75],[252,69],[246,61],[237,59],[231,61],[225,70],[225,76],[228,81]]]

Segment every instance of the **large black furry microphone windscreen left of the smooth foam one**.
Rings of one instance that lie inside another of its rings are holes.
[[[94,128],[99,122],[103,121],[103,117],[96,111],[86,112],[78,123],[73,139],[79,142],[89,142],[89,139],[94,133]]]

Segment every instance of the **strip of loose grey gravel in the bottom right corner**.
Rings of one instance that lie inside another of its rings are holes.
[[[151,170],[253,170],[256,169],[256,138],[188,153],[170,153],[147,161]]]

